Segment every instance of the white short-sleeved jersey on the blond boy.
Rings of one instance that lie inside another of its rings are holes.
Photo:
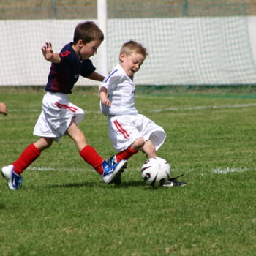
[[[135,108],[135,83],[124,72],[124,69],[117,64],[112,69],[110,75],[105,78],[102,85],[108,90],[110,107],[106,107],[100,102],[100,109],[106,116],[137,115]]]

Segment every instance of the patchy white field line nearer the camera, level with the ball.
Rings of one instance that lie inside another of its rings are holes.
[[[91,172],[94,171],[92,168],[89,167],[85,167],[83,169],[81,168],[53,168],[53,167],[28,167],[27,170],[35,170],[35,171],[64,171],[64,172],[72,172],[72,171],[83,171],[83,172]],[[226,167],[226,168],[221,168],[221,167],[215,167],[214,169],[210,170],[212,173],[217,173],[217,174],[227,174],[227,173],[244,173],[246,171],[255,171],[256,168],[249,168],[249,167]],[[136,169],[132,169],[129,170],[129,168],[127,168],[127,170],[125,170],[126,172],[130,172],[130,171],[140,171],[140,168],[136,168]],[[172,170],[173,172],[179,172],[179,173],[190,173],[193,170],[189,169],[189,170]]]

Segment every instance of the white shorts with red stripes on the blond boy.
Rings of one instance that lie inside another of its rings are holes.
[[[166,138],[162,127],[141,114],[109,116],[108,133],[116,151],[124,151],[141,137],[145,141],[150,139],[158,150]]]

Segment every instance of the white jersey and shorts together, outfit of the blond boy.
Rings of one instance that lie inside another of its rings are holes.
[[[118,64],[103,81],[100,88],[108,91],[110,108],[100,102],[100,109],[108,116],[108,134],[116,151],[124,151],[138,138],[151,140],[156,150],[165,141],[166,134],[162,127],[135,108],[135,83]]]

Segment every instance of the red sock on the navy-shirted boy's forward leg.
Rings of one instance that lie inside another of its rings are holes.
[[[103,168],[102,168],[102,162],[104,159],[99,156],[97,151],[92,147],[92,146],[85,146],[81,151],[80,151],[80,156],[83,157],[83,159],[94,169],[97,171],[99,174],[103,174]]]

